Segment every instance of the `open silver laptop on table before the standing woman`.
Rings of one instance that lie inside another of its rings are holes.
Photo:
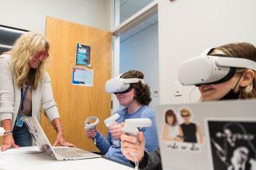
[[[22,117],[22,120],[25,122],[26,127],[29,129],[40,151],[46,152],[55,160],[82,160],[101,157],[92,152],[82,150],[81,148],[52,147],[36,117]]]

